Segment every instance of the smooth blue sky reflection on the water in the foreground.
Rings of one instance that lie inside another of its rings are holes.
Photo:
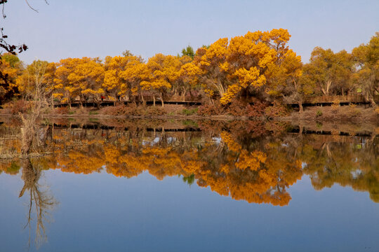
[[[379,250],[379,204],[350,187],[314,190],[307,176],[288,189],[287,207],[248,204],[147,172],[125,179],[48,170],[40,183],[60,204],[39,251]],[[20,175],[0,175],[1,251],[27,246],[22,184]]]

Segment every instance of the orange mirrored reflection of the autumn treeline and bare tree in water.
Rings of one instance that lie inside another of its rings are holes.
[[[22,151],[25,132],[17,137],[13,126],[1,126],[6,139],[0,143],[1,153],[8,157],[22,153],[23,158],[1,159],[0,170],[17,174],[22,167],[25,185],[20,197],[29,193],[27,226],[34,209],[37,243],[46,240],[44,223],[56,204],[39,189],[45,169],[105,171],[126,178],[149,172],[159,180],[181,176],[189,185],[197,183],[234,200],[278,206],[289,204],[288,188],[308,175],[316,190],[338,183],[368,192],[379,202],[376,129],[371,137],[351,137],[289,134],[284,123],[256,121],[185,121],[171,130],[159,120],[107,120],[107,124],[101,128],[67,121],[59,127],[35,127],[32,135],[38,139],[29,138],[32,148],[27,148],[27,155]]]

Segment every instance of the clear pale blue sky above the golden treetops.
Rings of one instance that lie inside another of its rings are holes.
[[[247,31],[288,29],[288,44],[303,62],[314,47],[351,51],[379,31],[379,1],[128,1],[10,0],[1,19],[8,42],[25,43],[19,57],[59,62],[67,57],[121,55],[130,50],[145,59],[177,55],[218,38]]]

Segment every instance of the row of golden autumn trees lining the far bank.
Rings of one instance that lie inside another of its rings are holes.
[[[157,54],[145,62],[120,56],[67,58],[58,63],[34,61],[25,66],[15,55],[3,55],[0,98],[33,99],[41,92],[46,104],[102,99],[145,102],[159,99],[202,99],[228,106],[231,102],[302,102],[322,95],[363,94],[375,106],[379,92],[379,32],[352,52],[314,48],[310,62],[288,48],[286,29],[248,32],[220,38],[196,52]]]

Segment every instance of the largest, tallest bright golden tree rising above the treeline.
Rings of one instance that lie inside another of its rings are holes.
[[[228,104],[237,94],[274,90],[271,82],[273,70],[290,57],[288,46],[290,34],[286,29],[248,32],[228,41],[220,38],[209,48],[199,48],[195,62],[204,71],[205,92],[220,94],[221,104]],[[291,52],[291,57],[294,52]],[[295,57],[300,61],[299,57]],[[288,71],[298,71],[289,68]],[[298,73],[294,73],[298,75]],[[266,88],[264,88],[266,87]]]

